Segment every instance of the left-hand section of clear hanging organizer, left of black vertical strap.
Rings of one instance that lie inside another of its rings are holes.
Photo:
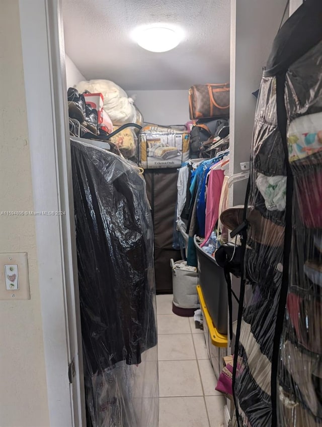
[[[270,105],[267,106],[267,99]],[[268,149],[267,145],[271,148]],[[267,156],[270,153],[270,157]],[[265,154],[262,152],[264,151]],[[276,157],[275,158],[275,153]],[[277,128],[276,81],[262,79],[251,158],[245,274],[247,297],[240,325],[234,382],[239,425],[271,427],[271,367],[282,281],[285,210],[268,210],[256,185],[258,174],[286,175]],[[276,232],[279,227],[280,232]],[[236,354],[236,353],[235,353]]]

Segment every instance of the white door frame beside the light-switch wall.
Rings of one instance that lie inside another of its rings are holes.
[[[49,423],[85,427],[61,0],[19,0],[19,10],[34,210],[64,212],[34,217]]]

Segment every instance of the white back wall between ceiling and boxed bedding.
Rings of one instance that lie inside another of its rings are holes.
[[[188,88],[189,89],[189,88]],[[128,90],[145,122],[184,125],[189,119],[187,90]]]

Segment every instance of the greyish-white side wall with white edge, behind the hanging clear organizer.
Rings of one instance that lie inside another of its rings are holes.
[[[285,2],[281,0],[231,0],[230,35],[230,145],[229,173],[240,172],[249,161],[256,98],[265,66],[277,34]],[[233,204],[244,204],[246,181],[236,183]]]

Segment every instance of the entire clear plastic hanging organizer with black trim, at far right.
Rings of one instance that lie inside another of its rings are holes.
[[[306,0],[284,24],[259,92],[235,349],[240,426],[322,425],[321,17],[322,2]]]

